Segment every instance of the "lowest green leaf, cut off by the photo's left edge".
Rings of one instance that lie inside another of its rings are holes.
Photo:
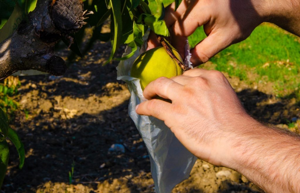
[[[7,142],[1,141],[0,142],[0,188],[2,186],[9,158],[9,149]]]

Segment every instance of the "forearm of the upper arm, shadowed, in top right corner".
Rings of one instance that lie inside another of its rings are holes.
[[[268,3],[266,22],[300,36],[300,0],[271,0]]]

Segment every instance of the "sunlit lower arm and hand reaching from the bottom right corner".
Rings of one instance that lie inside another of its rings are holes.
[[[222,73],[193,69],[162,77],[143,94],[149,100],[137,113],[164,120],[200,159],[234,169],[267,192],[300,191],[300,138],[250,117]]]

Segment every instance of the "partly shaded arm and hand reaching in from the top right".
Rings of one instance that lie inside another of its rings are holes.
[[[194,66],[205,63],[228,46],[246,39],[262,22],[271,22],[300,36],[300,1],[298,0],[183,0],[166,8],[165,21],[171,28],[173,46],[184,54],[184,44],[197,27],[207,37],[192,50]],[[199,40],[200,41],[200,40]],[[149,48],[158,45],[151,34]]]

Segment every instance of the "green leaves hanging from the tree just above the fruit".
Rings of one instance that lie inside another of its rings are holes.
[[[151,11],[149,6],[156,6],[157,9]],[[131,57],[134,51],[143,45],[142,37],[148,28],[156,34],[169,36],[169,30],[163,20],[164,4],[161,0],[86,0],[84,8],[94,13],[87,19],[93,28],[93,35],[83,52],[78,51],[80,46],[76,49],[71,48],[77,55],[85,53],[91,47],[91,42],[99,39],[112,43],[111,55],[106,63],[112,59],[123,60]],[[110,21],[110,32],[101,32],[102,25],[107,21]],[[84,28],[75,34],[77,42],[82,42]],[[114,58],[119,45],[122,44],[131,47],[132,52],[122,58]]]

